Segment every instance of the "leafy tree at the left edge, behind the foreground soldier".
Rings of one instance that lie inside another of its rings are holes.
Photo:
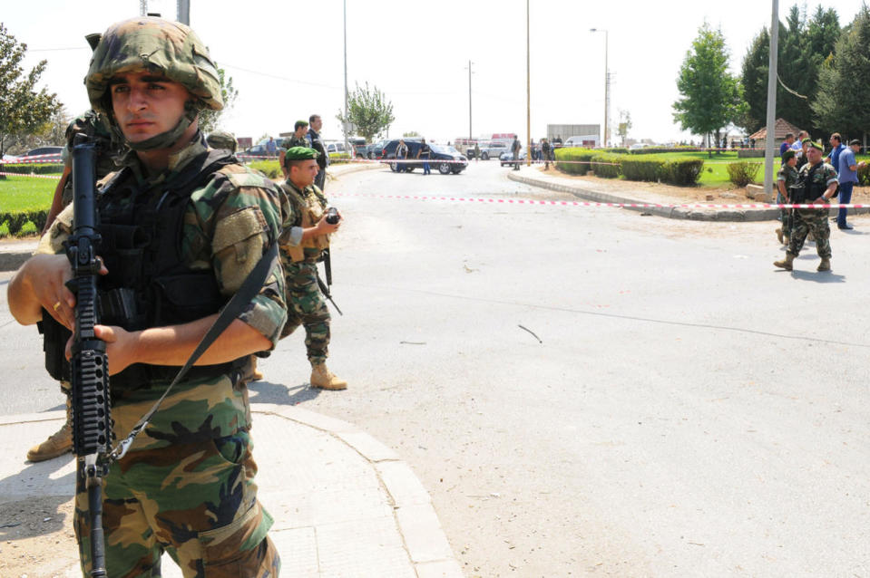
[[[27,44],[18,43],[0,23],[0,159],[10,136],[44,128],[61,106],[56,94],[45,88],[36,92],[46,61],[25,74],[21,61],[26,52]]]

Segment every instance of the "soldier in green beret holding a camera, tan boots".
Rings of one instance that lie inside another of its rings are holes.
[[[318,287],[318,258],[329,246],[329,234],[335,233],[341,219],[327,223],[323,196],[314,178],[318,174],[318,151],[306,147],[288,149],[285,157],[288,179],[281,185],[287,193],[289,207],[281,236],[281,262],[287,275],[287,324],[282,337],[305,327],[305,346],[311,363],[311,385],[324,390],[347,389],[327,369],[329,346],[329,310]],[[339,216],[340,217],[340,216]]]

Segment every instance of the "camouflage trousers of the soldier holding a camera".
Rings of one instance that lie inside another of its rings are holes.
[[[281,337],[305,327],[305,347],[312,365],[324,363],[329,355],[329,310],[318,287],[318,265],[285,265],[287,277],[287,324]]]

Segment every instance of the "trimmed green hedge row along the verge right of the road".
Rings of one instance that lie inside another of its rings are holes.
[[[558,161],[580,162],[558,162]],[[631,155],[600,153],[589,149],[557,149],[556,168],[571,174],[585,175],[594,170],[601,178],[662,181],[681,187],[698,183],[704,161],[701,159],[632,159]],[[602,163],[602,164],[596,164]],[[615,164],[603,164],[615,163]]]

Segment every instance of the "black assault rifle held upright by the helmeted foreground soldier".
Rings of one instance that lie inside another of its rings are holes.
[[[73,452],[78,482],[87,489],[91,525],[91,576],[104,577],[103,477],[108,472],[112,443],[109,371],[106,344],[96,338],[97,279],[101,263],[96,255],[97,145],[83,134],[73,140],[73,236],[64,244],[73,267],[67,283],[75,294],[75,330],[70,383],[73,405]]]

